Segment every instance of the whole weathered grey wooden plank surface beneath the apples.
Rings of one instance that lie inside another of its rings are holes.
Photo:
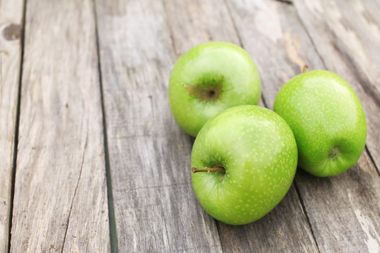
[[[379,12],[372,0],[0,0],[0,252],[380,252]],[[344,77],[367,117],[358,163],[333,178],[298,170],[252,224],[207,215],[167,93],[175,61],[206,41],[247,50],[270,109],[305,64]]]

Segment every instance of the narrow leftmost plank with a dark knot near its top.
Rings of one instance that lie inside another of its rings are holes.
[[[0,251],[7,252],[23,1],[0,2]]]

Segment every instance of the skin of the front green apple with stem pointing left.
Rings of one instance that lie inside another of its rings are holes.
[[[211,118],[192,150],[192,167],[223,166],[225,173],[192,173],[194,192],[208,214],[243,225],[268,214],[288,192],[297,167],[297,146],[275,112],[241,105]]]

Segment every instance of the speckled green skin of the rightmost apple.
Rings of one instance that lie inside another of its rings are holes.
[[[333,72],[295,76],[278,92],[274,111],[294,133],[298,165],[312,175],[343,173],[363,152],[367,136],[363,107],[350,85]]]

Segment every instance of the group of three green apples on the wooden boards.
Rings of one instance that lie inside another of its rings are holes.
[[[258,106],[260,96],[253,60],[229,43],[187,51],[170,75],[174,118],[196,137],[194,192],[223,223],[247,224],[268,214],[288,192],[297,164],[315,176],[335,176],[364,149],[363,107],[337,74],[315,70],[293,77],[273,111]]]

